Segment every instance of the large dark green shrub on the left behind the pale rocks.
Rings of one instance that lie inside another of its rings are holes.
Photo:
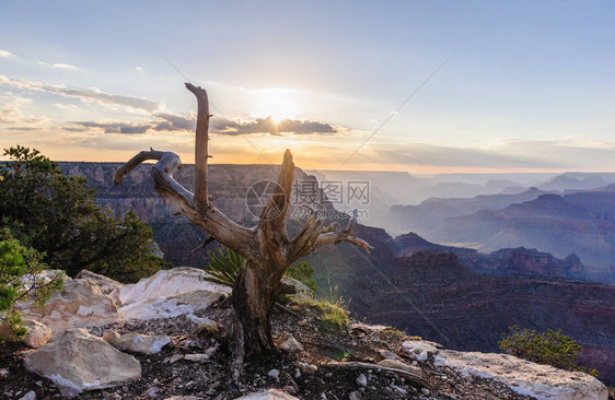
[[[135,282],[169,266],[151,254],[151,227],[132,212],[116,219],[102,209],[85,178],[65,176],[36,150],[18,145],[4,155],[11,161],[0,165],[0,227],[51,268]]]

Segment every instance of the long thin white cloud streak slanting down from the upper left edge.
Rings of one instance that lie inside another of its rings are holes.
[[[0,86],[8,86],[22,91],[50,93],[63,97],[79,98],[83,103],[94,102],[94,103],[106,104],[106,105],[108,104],[118,105],[123,107],[146,110],[148,113],[154,113],[161,108],[161,104],[155,101],[151,101],[142,97],[109,94],[109,93],[102,92],[95,87],[71,89],[62,85],[56,85],[56,84],[38,82],[38,81],[12,80],[4,75],[0,75]]]

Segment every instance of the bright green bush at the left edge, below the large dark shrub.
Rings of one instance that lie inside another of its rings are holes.
[[[65,273],[43,275],[47,268],[40,260],[43,255],[33,248],[22,246],[3,231],[0,242],[0,325],[7,325],[11,340],[22,339],[27,330],[22,325],[16,305],[32,302],[43,305],[65,282]]]

